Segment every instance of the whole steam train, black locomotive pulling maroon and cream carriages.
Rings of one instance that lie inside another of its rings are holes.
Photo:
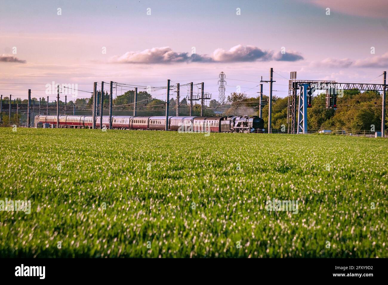
[[[56,115],[36,115],[35,128],[40,126],[56,127]],[[60,128],[92,128],[93,117],[86,115],[60,115]],[[102,116],[102,127],[109,128],[109,116]],[[96,128],[100,129],[100,116],[96,117]],[[112,116],[113,129],[151,129],[164,130],[164,116]],[[225,133],[260,133],[264,121],[258,116],[229,117],[168,117],[168,129],[172,131],[211,131]]]

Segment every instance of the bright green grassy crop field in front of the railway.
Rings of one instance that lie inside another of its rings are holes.
[[[0,212],[1,257],[388,257],[388,140],[0,128],[0,142],[0,200],[31,201]]]

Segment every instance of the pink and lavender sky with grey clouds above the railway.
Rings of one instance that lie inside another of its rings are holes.
[[[292,71],[298,79],[383,83],[386,2],[6,0],[0,4],[0,93],[25,99],[31,89],[33,97],[53,101],[55,92],[46,90],[52,82],[77,84],[82,98],[90,97],[95,81],[159,87],[170,79],[204,82],[218,100],[224,72],[226,95],[241,90],[254,97],[271,67],[273,94],[280,97],[288,94]],[[263,83],[264,94],[268,89]],[[165,100],[166,90],[152,96]]]

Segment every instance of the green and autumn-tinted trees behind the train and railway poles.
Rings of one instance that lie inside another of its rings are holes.
[[[99,96],[100,98],[100,96]],[[35,100],[35,106],[39,104],[37,98],[31,98],[31,102]],[[326,94],[321,93],[313,97],[312,108],[308,108],[307,124],[309,129],[351,129],[354,131],[381,131],[381,106],[382,96],[377,91],[365,91],[361,93],[359,90],[346,90],[341,98],[337,98],[336,109],[326,109]],[[124,94],[117,96],[113,101],[113,109],[122,111],[120,114],[131,114],[133,112],[133,103],[135,94],[133,90],[126,91]],[[38,102],[38,103],[37,103]],[[3,98],[3,103],[9,103],[9,97]],[[14,103],[14,100],[12,100]],[[28,100],[15,99],[15,103],[27,104]],[[74,101],[77,110],[91,109],[93,97],[78,98]],[[59,101],[60,105],[64,105],[63,101]],[[68,102],[70,107],[73,101]],[[31,105],[33,105],[31,103]],[[47,105],[45,98],[41,98],[41,107]],[[170,98],[169,115],[176,114],[176,98]],[[104,95],[104,108],[109,106],[109,94]],[[227,97],[227,102],[220,103],[217,100],[210,100],[208,105],[205,105],[205,116],[233,116],[233,115],[259,115],[260,99],[259,97],[248,98],[244,93],[231,93]],[[146,91],[141,91],[137,94],[137,114],[138,115],[165,115],[165,101],[157,98],[152,98],[151,94]],[[132,113],[133,114],[133,113]],[[192,106],[192,115],[199,116],[201,114],[200,101],[194,101]],[[189,105],[185,96],[180,98],[179,115],[189,115]],[[280,98],[272,96],[272,128],[281,129],[282,125],[288,126],[288,97]],[[3,115],[3,124],[7,121],[8,116]],[[268,96],[263,95],[262,100],[262,118],[264,120],[264,128],[268,128]],[[388,116],[387,116],[388,118]],[[20,122],[20,114],[11,116],[11,123]],[[388,119],[386,119],[386,126]]]

